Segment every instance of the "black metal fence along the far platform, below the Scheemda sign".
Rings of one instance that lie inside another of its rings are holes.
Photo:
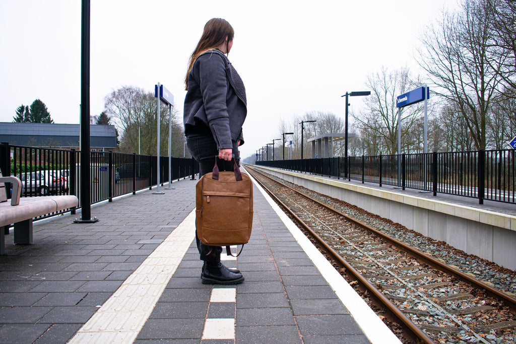
[[[256,165],[516,203],[514,150],[256,161]]]

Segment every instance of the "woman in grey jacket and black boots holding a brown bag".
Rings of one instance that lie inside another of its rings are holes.
[[[183,123],[188,151],[199,161],[199,176],[213,170],[216,156],[219,170],[233,171],[232,157],[240,162],[238,146],[244,143],[242,125],[247,101],[244,83],[226,56],[233,46],[233,36],[233,27],[227,21],[211,19],[190,56]],[[196,240],[204,261],[203,284],[244,282],[238,269],[220,262],[221,247]]]

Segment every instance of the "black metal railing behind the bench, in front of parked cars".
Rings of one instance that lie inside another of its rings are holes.
[[[0,143],[0,169],[4,176],[22,181],[22,197],[74,194],[81,204],[80,152]],[[191,158],[159,157],[160,185],[199,173]],[[157,157],[114,152],[90,152],[90,204],[136,193],[157,185]],[[6,188],[9,192],[9,188]],[[10,196],[10,195],[8,195]],[[71,210],[72,213],[75,209]],[[41,218],[56,214],[48,214]]]

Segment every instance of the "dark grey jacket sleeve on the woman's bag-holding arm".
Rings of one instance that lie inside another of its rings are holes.
[[[204,110],[217,148],[233,148],[226,104],[228,78],[224,61],[218,54],[204,54],[198,58],[198,62]]]

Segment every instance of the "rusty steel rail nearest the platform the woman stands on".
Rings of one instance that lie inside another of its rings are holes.
[[[260,173],[256,170],[253,170],[257,173]],[[260,173],[262,174],[262,173]],[[267,176],[265,176],[267,177]],[[310,233],[310,235],[324,248],[324,250],[334,259],[337,261],[338,264],[343,266],[346,269],[346,273],[350,274],[353,279],[356,279],[370,294],[374,296],[374,298],[385,308],[389,310],[389,312],[397,319],[397,323],[402,325],[404,327],[405,331],[409,334],[412,338],[417,338],[418,340],[426,343],[426,344],[433,344],[434,341],[425,333],[423,330],[421,330],[416,324],[414,324],[404,313],[401,312],[401,310],[396,307],[388,298],[386,298],[373,284],[371,284],[365,277],[363,277],[360,272],[358,272],[356,269],[354,269],[340,254],[335,252],[330,245],[326,243],[325,240],[320,238],[309,225],[307,225],[303,220],[301,220],[296,214],[294,214],[294,211],[291,210],[286,204],[284,204],[272,191],[270,191],[262,182],[257,180],[255,178],[256,182],[259,183],[268,193],[271,195],[288,213],[298,221],[303,228]],[[288,186],[286,186],[289,188]],[[292,189],[292,188],[291,188]],[[292,189],[294,190],[294,189]],[[297,193],[299,193],[297,190],[294,190]],[[302,194],[303,195],[303,194]],[[306,195],[303,195],[306,196]],[[318,202],[319,203],[319,202]]]

